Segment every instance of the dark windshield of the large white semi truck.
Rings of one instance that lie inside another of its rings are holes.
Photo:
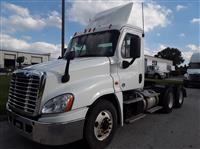
[[[110,30],[72,38],[65,52],[75,51],[75,57],[110,57],[114,55],[119,31]]]

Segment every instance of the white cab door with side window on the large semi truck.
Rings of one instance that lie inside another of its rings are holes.
[[[144,85],[144,56],[141,36],[124,32],[118,45],[119,65],[118,75],[122,91],[142,88]],[[129,66],[123,67],[123,63]]]

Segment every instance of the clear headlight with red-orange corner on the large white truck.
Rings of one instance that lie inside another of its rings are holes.
[[[63,94],[47,101],[42,113],[61,113],[70,111],[73,105],[74,96],[72,94]]]

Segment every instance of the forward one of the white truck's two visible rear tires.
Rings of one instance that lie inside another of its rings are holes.
[[[173,89],[169,87],[163,96],[163,112],[170,113],[172,112],[174,106],[174,93]]]

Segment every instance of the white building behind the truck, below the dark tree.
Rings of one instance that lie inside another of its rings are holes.
[[[173,66],[173,61],[163,59],[163,58],[158,58],[158,57],[153,57],[150,55],[145,55],[145,69],[147,66],[150,65],[156,65],[159,67],[159,70],[164,72],[164,73],[169,73],[170,71],[174,71],[175,67]]]

